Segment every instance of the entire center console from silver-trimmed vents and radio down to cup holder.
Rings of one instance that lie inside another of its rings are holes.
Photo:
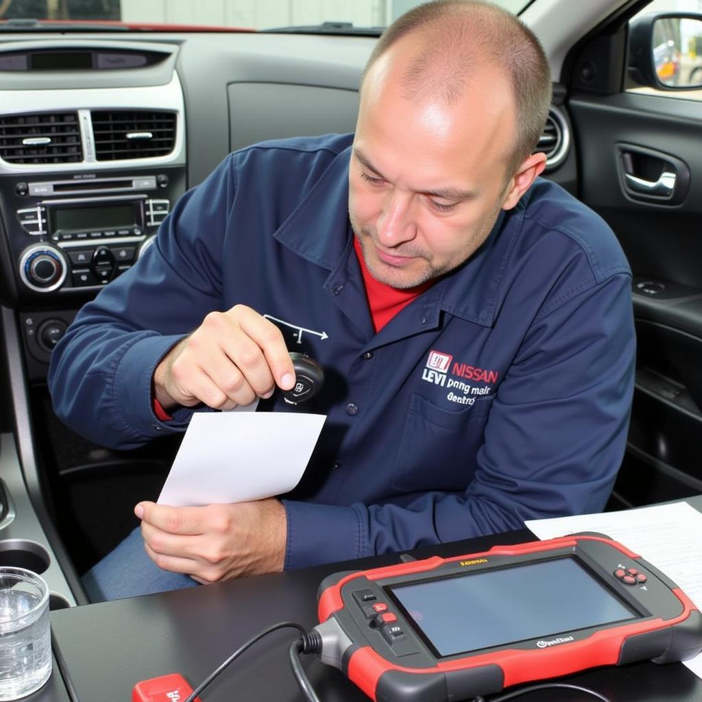
[[[11,398],[0,407],[0,564],[43,574],[65,607],[85,602],[77,572],[100,557],[97,548],[84,557],[93,531],[112,524],[94,504],[105,490],[81,490],[112,470],[119,487],[105,499],[128,514],[123,476],[145,471],[55,418],[51,351],[150,245],[187,176],[177,45],[51,46],[0,43],[0,391]],[[76,526],[81,512],[98,528]]]

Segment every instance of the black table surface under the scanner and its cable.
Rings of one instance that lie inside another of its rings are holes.
[[[702,496],[688,501],[702,508]],[[412,553],[448,557],[533,540],[530,531],[510,531]],[[168,673],[181,673],[195,687],[259,630],[279,621],[295,621],[308,629],[317,624],[317,587],[324,576],[394,563],[397,555],[391,554],[54,611],[55,656],[73,702],[128,702],[136,682]],[[206,689],[202,702],[302,700],[288,661],[294,637],[291,629],[265,637]],[[315,656],[304,656],[303,665],[322,702],[368,700],[340,671]],[[597,668],[559,682],[590,687],[611,702],[702,701],[702,680],[682,663]],[[578,691],[550,689],[524,694],[519,702],[594,699]]]

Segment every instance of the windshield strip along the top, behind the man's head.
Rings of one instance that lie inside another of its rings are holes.
[[[159,28],[179,25],[179,29],[271,29],[351,22],[354,27],[382,29],[418,4],[409,0],[0,0],[0,20],[107,20],[165,25]],[[496,4],[519,13],[529,0],[498,0]]]

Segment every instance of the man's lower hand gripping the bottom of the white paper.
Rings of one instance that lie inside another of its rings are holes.
[[[134,508],[146,552],[159,568],[208,584],[282,571],[287,522],[274,498],[234,505]]]

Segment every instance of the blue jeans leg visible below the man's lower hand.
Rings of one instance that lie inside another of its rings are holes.
[[[161,570],[144,550],[139,527],[83,576],[91,602],[194,588],[197,584],[190,576]]]

